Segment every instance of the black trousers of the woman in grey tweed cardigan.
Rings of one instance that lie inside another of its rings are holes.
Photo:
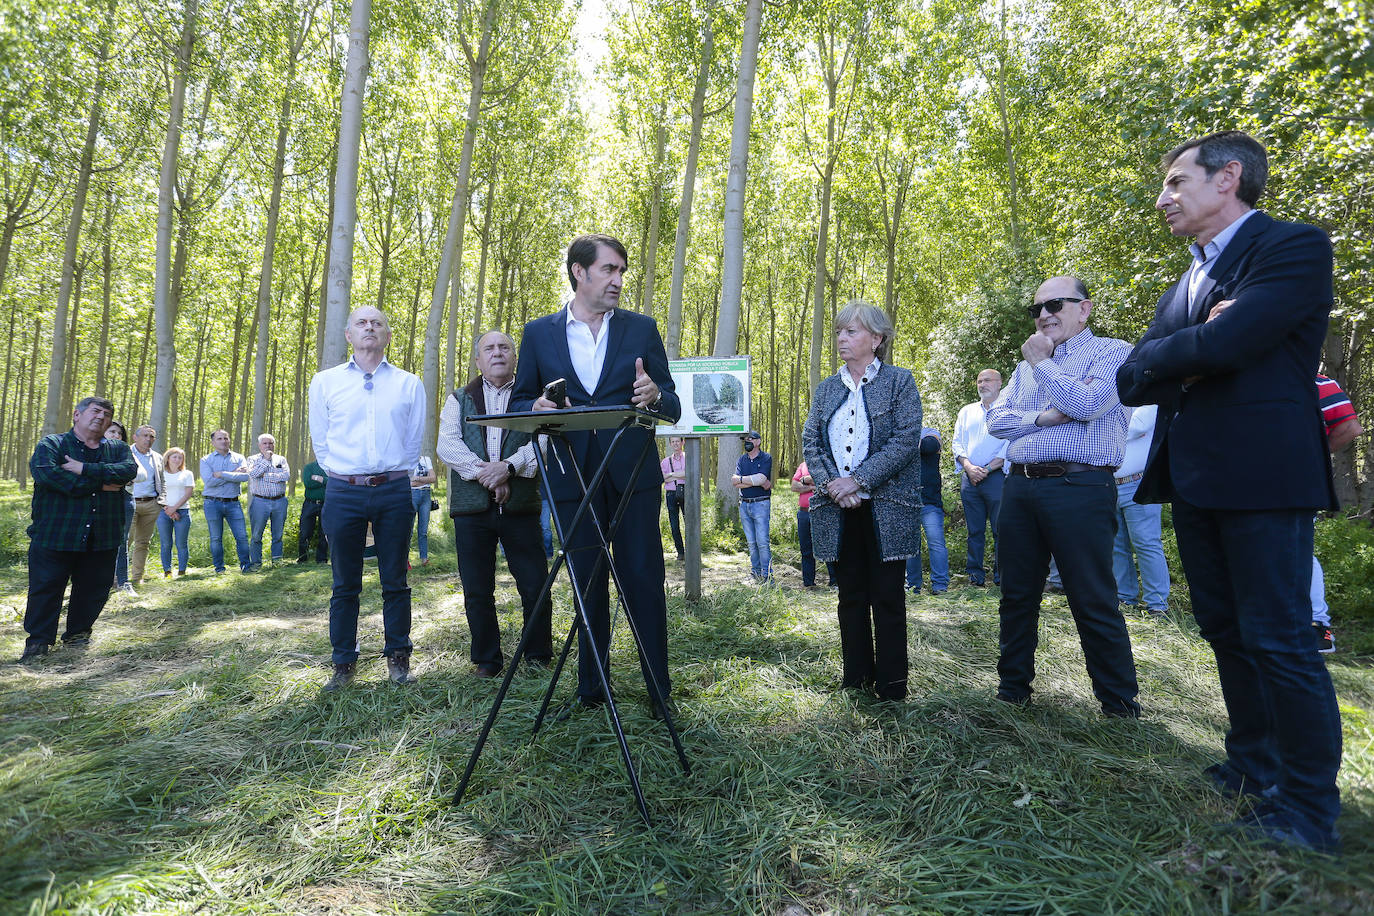
[[[872,504],[845,509],[840,529],[840,654],[842,687],[871,687],[882,699],[907,696],[905,560],[883,562]]]

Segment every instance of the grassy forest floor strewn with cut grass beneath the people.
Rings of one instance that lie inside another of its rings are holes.
[[[834,593],[669,569],[669,651],[691,773],[647,714],[624,625],[622,722],[532,737],[547,672],[521,670],[462,806],[499,681],[478,680],[452,553],[412,574],[415,672],[387,683],[375,567],[359,680],[328,677],[328,570],[147,581],[85,652],[16,666],[25,570],[0,569],[0,913],[1369,913],[1374,669],[1330,658],[1345,725],[1345,856],[1215,825],[1226,714],[1191,621],[1128,621],[1145,718],[1105,720],[1062,597],[1036,702],[993,699],[996,589],[908,602],[911,692],[837,689]],[[155,563],[150,563],[155,569]],[[499,600],[517,640],[508,577]],[[555,633],[569,626],[555,602]],[[1186,618],[1186,612],[1179,617]],[[572,692],[565,673],[555,702]]]

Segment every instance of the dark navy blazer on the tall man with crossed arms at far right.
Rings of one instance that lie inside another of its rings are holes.
[[[1138,503],[1334,508],[1316,375],[1334,301],[1320,229],[1249,217],[1187,305],[1186,276],[1117,372],[1127,405],[1158,404]],[[1215,321],[1212,306],[1235,299]],[[1202,376],[1184,386],[1184,379]]]

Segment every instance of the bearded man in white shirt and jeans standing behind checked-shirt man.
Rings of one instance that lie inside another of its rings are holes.
[[[1002,511],[1002,485],[1006,479],[1003,464],[1007,456],[1004,439],[988,435],[988,408],[1002,391],[1002,374],[996,369],[978,372],[978,400],[959,409],[954,424],[954,463],[959,467],[959,501],[969,526],[969,585],[982,586],[984,538],[992,526],[992,581],[1002,582],[998,564],[998,516]]]

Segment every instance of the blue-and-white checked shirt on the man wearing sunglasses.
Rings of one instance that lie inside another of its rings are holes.
[[[1125,341],[1094,336],[1084,328],[1035,368],[1022,360],[1011,385],[988,409],[988,431],[1009,442],[1007,461],[1120,467],[1131,411],[1117,397],[1116,371],[1129,354]],[[1051,407],[1072,419],[1036,426],[1040,412]]]

